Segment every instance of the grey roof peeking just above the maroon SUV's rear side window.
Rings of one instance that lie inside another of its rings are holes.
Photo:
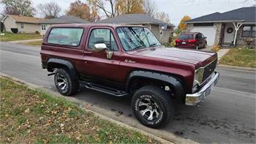
[[[77,18],[74,16],[61,16],[59,18],[53,18],[48,20],[42,20],[40,23],[44,24],[68,24],[68,23],[90,23],[87,20],[83,20],[81,18]]]

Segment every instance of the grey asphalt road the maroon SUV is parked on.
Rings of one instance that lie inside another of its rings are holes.
[[[0,72],[56,91],[53,77],[41,69],[39,48],[1,42],[0,61]],[[255,143],[255,72],[219,67],[217,71],[219,83],[206,102],[197,107],[176,104],[174,120],[152,132],[170,132],[199,143]],[[86,88],[75,98],[100,107],[98,113],[141,126],[132,114],[129,98],[113,98]]]

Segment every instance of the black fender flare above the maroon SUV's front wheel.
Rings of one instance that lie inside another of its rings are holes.
[[[150,78],[154,80],[164,81],[166,83],[169,83],[170,86],[173,86],[173,88],[176,91],[176,96],[182,97],[184,95],[184,88],[181,84],[181,80],[179,80],[178,77],[173,77],[172,75],[160,74],[158,72],[148,72],[148,71],[142,71],[142,70],[135,70],[129,73],[129,76],[127,77],[127,91],[129,91],[130,81],[135,77],[143,77],[143,78]]]

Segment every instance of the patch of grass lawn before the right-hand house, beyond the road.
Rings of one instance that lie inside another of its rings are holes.
[[[232,48],[219,64],[256,68],[256,49]]]

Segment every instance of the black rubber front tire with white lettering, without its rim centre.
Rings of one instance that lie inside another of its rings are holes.
[[[141,113],[140,102],[142,102],[143,99],[152,99],[161,109],[160,112],[162,113],[159,113],[159,116],[155,120],[150,121],[145,118],[145,114],[143,115]],[[174,114],[173,102],[170,99],[170,96],[166,91],[157,86],[143,86],[135,91],[135,94],[132,97],[132,110],[141,124],[154,129],[165,126],[169,119],[173,118]]]

